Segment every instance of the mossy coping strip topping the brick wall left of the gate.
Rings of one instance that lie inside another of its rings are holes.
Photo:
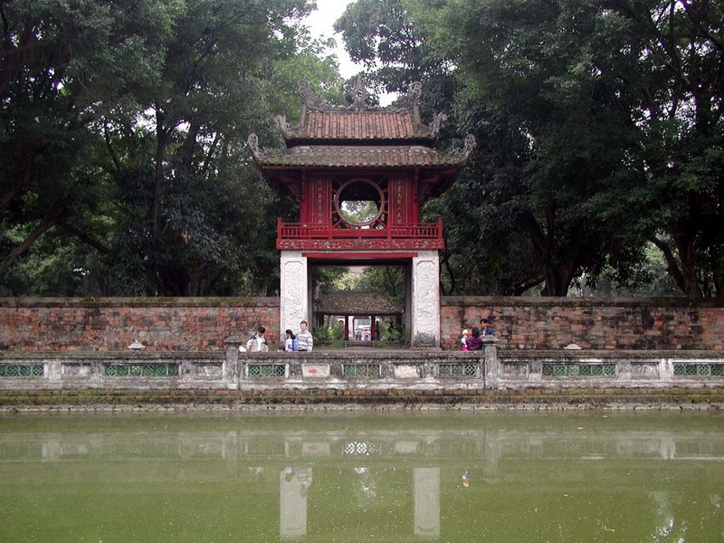
[[[0,298],[0,308],[279,307],[279,297]]]

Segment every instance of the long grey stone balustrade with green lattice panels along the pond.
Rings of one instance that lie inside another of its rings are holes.
[[[228,340],[227,340],[228,342]],[[553,353],[498,349],[486,340],[483,351],[421,352],[370,350],[364,357],[344,351],[242,353],[230,342],[224,353],[14,354],[0,357],[5,388],[256,386],[356,387],[576,387],[721,386],[724,355],[699,353],[662,357],[656,352]]]

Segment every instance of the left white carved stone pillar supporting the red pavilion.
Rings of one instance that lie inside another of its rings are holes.
[[[283,334],[286,329],[291,329],[294,333],[299,332],[302,320],[306,320],[311,329],[307,258],[301,256],[300,251],[282,251],[280,266],[280,334]]]

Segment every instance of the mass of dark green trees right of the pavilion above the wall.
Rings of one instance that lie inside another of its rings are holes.
[[[664,0],[350,5],[338,29],[353,58],[387,85],[452,75],[441,105],[454,132],[478,137],[472,164],[429,208],[449,217],[452,291],[513,293],[542,281],[542,293],[566,295],[582,275],[631,280],[654,243],[684,294],[722,295],[723,9]]]

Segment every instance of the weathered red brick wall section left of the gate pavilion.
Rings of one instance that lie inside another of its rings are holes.
[[[260,324],[277,341],[278,298],[0,299],[0,349],[214,350]]]

